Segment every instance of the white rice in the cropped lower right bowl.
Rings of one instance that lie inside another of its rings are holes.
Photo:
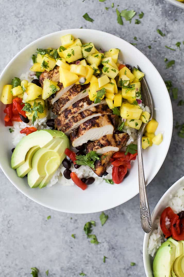
[[[178,214],[181,211],[184,211],[184,187],[178,189],[177,193],[172,196],[169,196],[170,200],[166,207],[171,207],[174,213]],[[166,217],[165,225],[169,228],[170,220]],[[148,254],[154,257],[157,249],[161,246],[161,243],[164,242],[164,234],[160,228],[160,217],[157,218],[155,222],[156,228],[149,237],[148,242]]]

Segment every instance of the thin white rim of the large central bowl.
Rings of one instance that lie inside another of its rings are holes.
[[[35,44],[36,42],[39,42],[39,41],[42,40],[42,39],[46,39],[47,37],[49,38],[50,36],[55,35],[55,34],[58,34],[58,35],[59,35],[59,34],[61,34],[61,32],[75,32],[75,31],[79,31],[79,30],[82,31],[82,32],[83,32],[83,31],[88,31],[88,32],[94,32],[94,33],[99,33],[99,34],[105,33],[105,34],[107,34],[107,35],[112,36],[112,38],[115,37],[115,38],[119,38],[120,40],[123,40],[123,43],[127,43],[128,45],[130,45],[130,47],[135,47],[135,46],[133,46],[131,43],[127,42],[126,40],[124,40],[124,39],[122,39],[122,38],[120,38],[120,37],[118,37],[118,36],[116,36],[116,35],[110,34],[110,33],[108,33],[108,32],[101,31],[101,30],[86,29],[86,28],[83,28],[83,29],[81,29],[81,28],[63,29],[63,30],[59,30],[59,31],[57,31],[57,32],[52,32],[52,33],[50,33],[50,34],[44,35],[44,36],[42,36],[42,37],[40,37],[40,38],[38,38],[38,39],[32,41],[32,42],[29,43],[28,45],[26,45],[26,46],[25,46],[22,50],[20,50],[20,51],[9,61],[9,63],[5,66],[4,70],[2,71],[2,73],[1,73],[1,75],[0,75],[0,80],[1,80],[1,78],[3,78],[3,75],[4,75],[4,73],[7,71],[7,68],[14,62],[14,60],[15,60],[21,53],[23,53],[25,50],[27,50],[30,46],[32,46],[32,45]],[[100,35],[99,35],[99,37],[100,37]],[[135,48],[136,48],[136,47],[135,47]],[[144,53],[142,53],[138,48],[136,48],[136,51],[140,52],[141,55],[144,55]],[[149,63],[152,64],[152,66],[154,67],[154,70],[158,73],[158,76],[159,76],[159,78],[160,78],[160,80],[161,80],[163,86],[166,88],[166,85],[165,85],[165,83],[164,83],[164,80],[162,79],[162,76],[160,75],[160,73],[159,73],[159,71],[157,70],[157,68],[156,68],[156,67],[153,65],[153,63],[146,57],[146,55],[144,55],[144,58],[145,58]],[[167,88],[166,88],[166,89],[167,89]],[[160,167],[157,169],[157,171],[155,172],[155,174],[152,176],[150,182],[154,179],[154,177],[156,176],[156,174],[157,174],[158,171],[160,170],[162,164],[164,163],[164,160],[165,160],[165,157],[167,156],[167,153],[168,153],[168,150],[169,150],[169,147],[170,147],[170,142],[171,142],[171,139],[172,139],[172,131],[173,131],[173,111],[172,111],[172,104],[171,104],[171,100],[170,100],[169,94],[167,95],[167,98],[168,98],[168,101],[169,101],[169,108],[170,108],[170,111],[171,111],[171,125],[170,125],[170,126],[171,126],[171,129],[170,129],[171,132],[170,132],[170,137],[168,137],[168,146],[167,146],[167,148],[166,148],[167,151],[165,151],[165,155],[163,155],[163,157],[162,157],[161,165],[160,165]],[[38,204],[40,204],[40,205],[42,205],[42,206],[48,207],[48,208],[50,208],[50,209],[53,209],[52,206],[43,204],[42,201],[35,200],[34,197],[31,197],[31,196],[29,196],[29,194],[23,192],[22,189],[19,188],[19,187],[17,186],[17,184],[12,180],[11,176],[7,176],[7,175],[6,175],[6,173],[5,173],[5,172],[6,172],[6,168],[5,168],[4,166],[2,166],[1,163],[0,163],[0,168],[1,168],[1,170],[3,171],[3,173],[5,174],[5,176],[9,179],[9,181],[10,181],[10,182],[15,186],[15,188],[17,188],[21,193],[23,193],[25,196],[27,196],[29,199],[35,201],[36,203],[38,203]],[[150,182],[149,182],[149,183],[150,183]],[[149,183],[148,183],[148,184],[149,184]],[[147,184],[147,185],[148,185],[148,184]],[[130,197],[130,198],[128,198],[125,202],[129,201],[130,199],[132,199],[132,198],[133,198],[134,196],[136,196],[137,194],[138,194],[138,193],[134,193],[133,196]],[[117,206],[119,206],[119,205],[121,205],[121,204],[123,204],[123,203],[125,203],[125,202],[119,202],[119,203],[117,203],[116,205],[109,206],[108,209],[112,209],[112,208],[114,208],[114,207],[117,207]],[[56,208],[54,208],[54,210],[56,210],[56,211],[62,211],[62,212],[69,212],[69,213],[71,212],[71,211],[66,211],[66,210],[63,210],[63,209],[61,210],[61,209],[56,209]],[[93,212],[100,212],[100,211],[95,210],[95,211],[91,211],[91,212],[87,212],[87,213],[93,213]],[[78,213],[79,213],[79,212],[78,212]],[[83,212],[80,212],[80,213],[83,214]]]

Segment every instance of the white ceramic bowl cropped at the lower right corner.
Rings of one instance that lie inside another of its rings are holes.
[[[176,183],[174,183],[161,197],[159,202],[157,203],[156,207],[153,210],[153,213],[151,214],[151,219],[153,222],[153,229],[155,229],[154,222],[155,220],[161,216],[162,211],[165,209],[165,207],[168,205],[169,202],[169,196],[172,194],[173,196],[177,193],[177,190],[184,186],[184,176],[180,178]],[[144,269],[146,272],[147,277],[154,277],[153,275],[153,258],[148,254],[148,241],[150,234],[144,235],[144,242],[143,242],[143,262],[144,262]]]

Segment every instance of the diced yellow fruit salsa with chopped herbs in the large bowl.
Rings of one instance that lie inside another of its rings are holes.
[[[113,114],[119,116],[119,130],[128,127],[139,130],[146,123],[142,139],[142,147],[146,149],[153,144],[162,142],[162,134],[155,135],[158,122],[150,119],[148,111],[141,109],[141,79],[144,73],[137,68],[131,68],[118,60],[120,50],[111,48],[106,52],[97,50],[92,42],[83,43],[72,34],[61,37],[61,45],[57,49],[37,49],[33,54],[33,65],[30,71],[36,71],[39,78],[43,71],[53,70],[59,66],[59,82],[66,88],[72,84],[90,83],[89,98],[94,103],[106,100]],[[15,77],[17,78],[17,77]],[[37,112],[37,117],[46,116],[47,98],[60,90],[58,82],[45,79],[43,88],[36,83],[17,78],[12,85],[5,85],[1,102],[11,104],[15,97],[22,98],[27,107],[26,115],[33,117],[32,109],[43,106]],[[144,110],[144,111],[143,111]]]

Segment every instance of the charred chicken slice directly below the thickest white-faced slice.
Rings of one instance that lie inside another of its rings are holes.
[[[105,135],[94,142],[90,142],[86,146],[86,153],[95,151],[98,154],[103,154],[109,151],[119,151],[129,139],[127,133]]]

